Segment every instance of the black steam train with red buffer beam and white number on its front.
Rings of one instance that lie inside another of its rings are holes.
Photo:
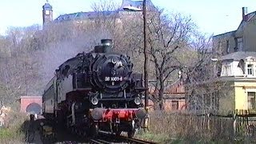
[[[55,70],[42,96],[42,114],[77,134],[125,131],[133,137],[146,117],[142,74],[133,72],[130,57],[114,53],[111,39],[101,42]]]

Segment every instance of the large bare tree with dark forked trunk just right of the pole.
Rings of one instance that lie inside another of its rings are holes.
[[[193,33],[194,23],[181,14],[165,15],[159,10],[150,17],[149,54],[156,78],[154,94],[150,98],[161,110],[167,80],[174,72],[182,69],[174,52],[187,47]]]

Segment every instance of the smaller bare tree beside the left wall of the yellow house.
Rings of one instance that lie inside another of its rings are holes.
[[[190,62],[183,69],[188,109],[216,112],[219,97],[225,94],[222,88],[226,82],[219,81],[217,71],[214,70],[216,63],[212,61],[212,38],[195,35],[191,46],[195,55],[189,58]]]

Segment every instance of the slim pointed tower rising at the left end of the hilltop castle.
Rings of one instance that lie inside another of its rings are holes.
[[[47,23],[53,21],[53,7],[48,2],[42,6],[42,25],[46,26]]]

